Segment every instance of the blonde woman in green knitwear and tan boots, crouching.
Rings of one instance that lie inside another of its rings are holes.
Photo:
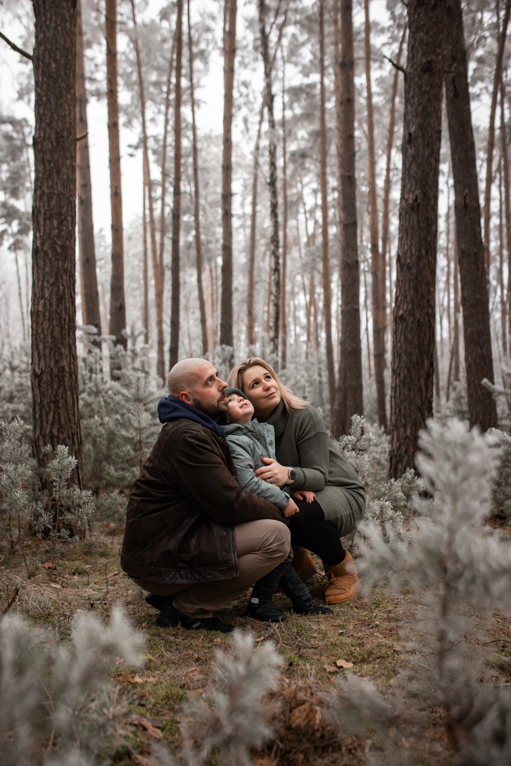
[[[326,574],[326,604],[355,601],[361,584],[340,538],[364,515],[358,476],[329,440],[319,413],[283,385],[264,359],[245,359],[231,371],[228,385],[244,391],[257,421],[274,428],[277,460],[263,457],[256,476],[287,485],[300,509],[290,518],[293,567],[303,581],[310,578],[316,569],[309,551],[316,553]]]

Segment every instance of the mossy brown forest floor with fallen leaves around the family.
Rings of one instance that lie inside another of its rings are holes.
[[[169,748],[179,744],[179,712],[183,702],[200,699],[211,674],[217,650],[228,650],[228,636],[162,628],[156,611],[144,601],[145,593],[120,569],[122,527],[110,529],[106,522],[93,525],[90,538],[78,545],[62,545],[57,568],[49,565],[49,548],[44,540],[25,542],[31,578],[19,552],[5,552],[0,561],[0,612],[15,588],[18,599],[11,611],[23,614],[32,624],[57,628],[65,639],[75,614],[92,613],[107,618],[120,604],[134,626],[146,636],[142,668],[119,665],[111,676],[118,685],[118,702],[123,702],[119,738],[111,751],[115,764],[149,764],[152,741],[164,741]],[[5,546],[4,546],[5,550]],[[1,558],[1,557],[0,557]],[[46,564],[46,566],[44,566]],[[323,601],[323,583],[310,584],[318,601]],[[248,591],[247,591],[248,596]],[[354,604],[333,607],[328,616],[303,617],[290,614],[290,601],[277,595],[274,604],[289,617],[272,627],[243,617],[247,596],[218,613],[226,623],[250,631],[256,646],[274,642],[283,657],[277,696],[284,702],[281,728],[267,751],[257,754],[259,766],[348,766],[365,764],[369,748],[378,747],[378,735],[368,727],[355,737],[340,739],[325,725],[316,725],[316,692],[332,687],[338,673],[345,671],[337,660],[352,663],[351,673],[371,679],[381,689],[390,689],[398,674],[413,663],[427,665],[421,642],[414,641],[414,624],[421,604],[412,594],[390,594],[375,588]],[[477,619],[477,617],[474,617]],[[511,621],[503,614],[480,619],[483,638],[490,644],[490,665],[495,679],[511,680]],[[415,636],[417,637],[417,636]],[[404,638],[406,640],[404,640]],[[481,640],[481,645],[484,643]],[[293,709],[309,705],[309,714],[300,725],[292,725]],[[442,711],[419,703],[427,713],[424,726],[398,732],[404,760],[427,764],[450,764],[452,754],[442,723]],[[396,737],[394,735],[394,740]],[[397,761],[392,761],[397,762]]]

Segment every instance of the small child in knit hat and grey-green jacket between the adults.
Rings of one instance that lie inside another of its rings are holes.
[[[261,456],[275,458],[274,427],[267,423],[258,423],[257,420],[251,421],[254,408],[239,388],[226,388],[224,394],[228,398],[228,425],[222,427],[236,466],[238,480],[255,495],[274,502],[283,510],[285,516],[291,515],[287,511],[293,508],[294,502],[289,494],[274,484],[258,479],[254,473],[257,468],[263,466]],[[310,499],[306,499],[312,502],[313,493],[300,493],[300,497],[306,494],[311,495]],[[267,622],[285,620],[286,617],[277,612],[271,603],[279,585],[290,597],[293,611],[297,614],[333,614],[329,607],[322,607],[314,601],[308,588],[291,566],[292,558],[290,552],[286,561],[257,581],[245,617]]]

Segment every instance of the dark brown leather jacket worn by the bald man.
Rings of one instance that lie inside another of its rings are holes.
[[[244,489],[227,443],[205,426],[166,423],[133,483],[121,566],[132,578],[198,583],[237,577],[234,524],[287,519]]]

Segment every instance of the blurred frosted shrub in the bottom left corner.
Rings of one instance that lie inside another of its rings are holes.
[[[68,645],[18,618],[0,620],[0,764],[97,763],[116,715],[104,673],[114,657],[139,663],[141,647],[120,611],[108,628],[77,617]]]

